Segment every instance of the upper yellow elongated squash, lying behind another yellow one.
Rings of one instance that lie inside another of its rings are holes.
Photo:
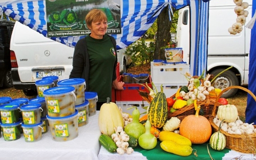
[[[175,132],[172,132],[172,131],[160,131],[159,140],[161,142],[172,141],[180,145],[187,145],[187,146],[192,145],[191,141],[188,138],[181,136],[179,134],[175,134]]]

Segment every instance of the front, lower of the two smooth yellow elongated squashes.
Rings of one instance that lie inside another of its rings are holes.
[[[163,141],[160,147],[166,151],[180,156],[188,156],[192,153],[193,149],[188,145],[181,145],[173,141]]]

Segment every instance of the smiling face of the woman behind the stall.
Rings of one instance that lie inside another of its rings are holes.
[[[95,39],[102,39],[106,33],[106,28],[108,28],[108,24],[106,20],[92,22],[91,27],[91,37]]]

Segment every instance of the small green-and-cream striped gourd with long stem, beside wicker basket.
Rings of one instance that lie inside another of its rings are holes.
[[[220,132],[222,122],[223,120],[219,125],[218,131],[210,137],[210,147],[215,150],[223,150],[226,147],[226,137]]]

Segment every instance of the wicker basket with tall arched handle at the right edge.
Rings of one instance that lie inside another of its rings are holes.
[[[222,92],[217,96],[216,101],[219,100],[220,96],[226,92],[229,89],[241,89],[246,91],[247,93],[249,93],[253,99],[256,101],[256,97],[255,95],[248,89],[240,87],[240,86],[231,86],[231,87],[227,87],[226,89],[222,90]],[[217,109],[217,103],[215,103],[214,105],[214,109],[212,110],[212,115],[209,117],[209,122],[211,124],[211,126],[213,127],[214,131],[218,131],[218,126],[214,123],[214,118],[216,116],[216,109]],[[256,126],[254,125],[254,128]],[[228,132],[220,129],[220,131],[222,132],[222,134],[225,135],[226,137],[226,148],[238,151],[238,152],[242,152],[242,153],[253,153],[255,154],[255,147],[256,147],[256,134],[250,134],[250,135],[234,135],[234,134],[229,134]],[[250,144],[250,145],[248,145]],[[253,146],[254,145],[254,146]]]

